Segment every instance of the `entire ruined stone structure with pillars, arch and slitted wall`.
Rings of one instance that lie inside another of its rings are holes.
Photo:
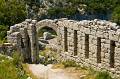
[[[37,62],[37,30],[48,26],[57,32],[58,54],[62,59],[120,76],[120,26],[105,20],[29,20],[11,26],[8,42],[25,60]]]

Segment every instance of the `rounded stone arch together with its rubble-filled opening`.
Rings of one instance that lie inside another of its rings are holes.
[[[57,35],[58,25],[53,20],[42,20],[36,24],[39,47],[52,47],[53,49],[57,46]],[[50,38],[49,38],[50,37]]]

